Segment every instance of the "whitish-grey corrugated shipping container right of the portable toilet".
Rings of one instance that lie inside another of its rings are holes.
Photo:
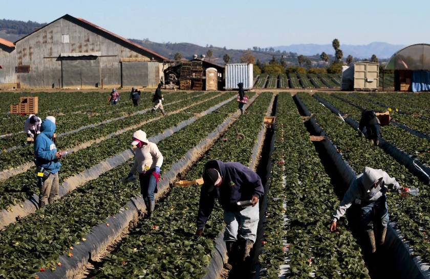
[[[253,64],[235,63],[225,65],[225,89],[238,89],[243,82],[244,89],[252,89],[254,85]]]

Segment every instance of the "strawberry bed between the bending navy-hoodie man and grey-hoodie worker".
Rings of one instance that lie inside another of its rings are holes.
[[[260,277],[369,277],[348,227],[329,233],[339,200],[290,94],[278,95],[276,114]]]

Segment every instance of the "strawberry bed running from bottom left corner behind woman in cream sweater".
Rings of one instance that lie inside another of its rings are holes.
[[[162,172],[168,173],[168,170],[176,161],[182,159],[188,149],[204,139],[213,130],[214,125],[228,119],[233,111],[237,111],[234,100],[220,108],[222,113],[210,113],[160,141],[158,146],[165,159]],[[207,125],[207,123],[213,125]],[[193,136],[190,137],[191,133]],[[130,145],[130,138],[123,139],[124,144]],[[155,138],[150,140],[155,141]],[[178,142],[181,144],[179,145]],[[7,274],[6,277],[28,277],[40,268],[46,268],[46,272],[50,272],[49,269],[52,270],[52,268],[61,270],[57,264],[60,255],[66,253],[67,259],[69,252],[73,255],[74,250],[81,251],[79,242],[82,242],[83,246],[91,247],[91,244],[85,243],[87,241],[85,236],[94,226],[103,225],[106,228],[109,224],[105,223],[106,217],[117,214],[121,208],[123,211],[130,209],[124,206],[139,193],[137,181],[128,184],[120,182],[121,177],[129,170],[130,164],[125,162],[71,192],[63,197],[61,202],[44,207],[34,215],[19,220],[1,231],[0,258],[4,263],[2,267],[3,273]],[[97,211],[94,208],[97,208]],[[108,230],[110,231],[109,227]],[[95,235],[94,238],[103,239],[103,237],[105,236]],[[105,239],[105,241],[112,241],[112,239]],[[69,249],[73,245],[76,245],[76,249]],[[74,257],[81,262],[79,259],[81,257],[88,259],[89,253],[75,254],[70,258],[75,259]]]

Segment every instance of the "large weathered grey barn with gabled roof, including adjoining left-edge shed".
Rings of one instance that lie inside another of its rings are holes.
[[[66,14],[13,44],[0,40],[0,83],[17,88],[156,87],[167,60]]]

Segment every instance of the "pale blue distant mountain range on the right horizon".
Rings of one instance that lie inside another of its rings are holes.
[[[341,44],[340,49],[343,51],[343,56],[352,55],[357,58],[370,58],[375,54],[378,58],[390,58],[396,51],[406,47],[401,44],[390,44],[386,42],[371,42],[369,44],[353,45]],[[331,44],[291,44],[272,47],[275,50],[295,52],[303,55],[315,55],[325,52],[334,55],[334,50]]]

